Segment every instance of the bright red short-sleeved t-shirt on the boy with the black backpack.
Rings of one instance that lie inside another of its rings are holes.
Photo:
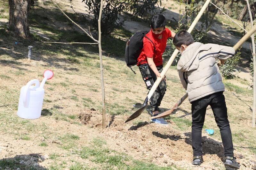
[[[156,38],[152,35],[152,30],[150,30],[146,36],[153,41],[155,44],[155,52],[154,52],[154,46],[150,40],[148,40],[146,37],[143,38],[143,48],[140,51],[140,55],[137,59],[137,66],[140,64],[148,63],[147,57],[152,58],[153,61],[156,64],[156,66],[163,65],[163,58],[162,54],[164,53],[167,38],[171,37],[172,33],[168,28],[165,28],[162,33],[162,38]]]

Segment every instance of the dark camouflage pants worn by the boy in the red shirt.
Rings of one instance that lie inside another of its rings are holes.
[[[157,66],[156,68],[159,71],[159,73],[163,71],[163,65]],[[153,72],[153,70],[150,69],[147,63],[140,64],[139,69],[140,69],[142,78],[147,86],[147,89],[150,90],[157,79],[156,74]],[[154,112],[159,110],[158,107],[161,104],[165,91],[166,91],[166,81],[162,80],[158,85],[158,87],[156,88],[156,91],[153,93],[151,99],[149,100],[150,111]]]

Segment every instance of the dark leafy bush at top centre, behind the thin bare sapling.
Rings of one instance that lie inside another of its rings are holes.
[[[69,0],[72,2],[72,0]],[[102,9],[101,32],[110,34],[115,28],[124,24],[124,19],[120,18],[121,12],[132,13],[134,17],[142,17],[146,12],[156,12],[155,5],[162,0],[105,0]],[[92,26],[98,28],[98,18],[100,14],[100,0],[83,0],[86,12],[92,21]]]

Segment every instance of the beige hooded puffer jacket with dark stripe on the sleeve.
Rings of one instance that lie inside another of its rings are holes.
[[[232,47],[218,44],[190,44],[177,64],[180,80],[188,92],[189,102],[225,91],[216,58],[226,60],[234,56]]]

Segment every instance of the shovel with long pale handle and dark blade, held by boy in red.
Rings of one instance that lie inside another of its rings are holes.
[[[191,24],[191,26],[188,28],[188,32],[191,33],[191,31],[194,29],[194,27],[196,26],[196,23],[199,21],[200,17],[203,15],[204,10],[208,7],[208,4],[210,3],[211,0],[206,0],[206,2],[204,3],[204,6],[202,7],[202,9],[199,11],[198,15],[196,16],[195,20],[193,21],[193,23]],[[142,105],[142,107],[137,110],[136,112],[134,112],[125,122],[129,122],[132,119],[135,119],[136,117],[140,116],[142,114],[142,112],[144,111],[144,109],[148,106],[148,100],[152,97],[153,93],[155,92],[156,88],[158,87],[158,85],[160,84],[160,82],[162,81],[162,79],[164,78],[164,75],[166,74],[166,72],[168,71],[168,69],[170,68],[170,66],[172,65],[173,60],[175,59],[176,55],[178,54],[179,50],[175,49],[175,51],[172,53],[171,58],[169,59],[168,63],[166,64],[166,66],[164,67],[163,71],[161,72],[161,77],[158,77],[156,79],[156,82],[154,83],[154,85],[152,86],[151,90],[148,93],[148,96],[146,97],[146,99],[144,100],[144,103]]]

